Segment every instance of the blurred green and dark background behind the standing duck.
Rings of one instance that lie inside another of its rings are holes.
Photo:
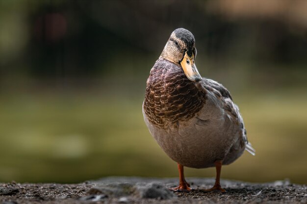
[[[222,178],[307,183],[306,11],[306,0],[0,0],[0,181],[177,177],[141,110],[150,69],[184,27],[256,148]]]

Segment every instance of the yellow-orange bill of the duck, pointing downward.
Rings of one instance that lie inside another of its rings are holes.
[[[192,54],[192,56],[189,57],[187,52],[185,52],[185,55],[180,64],[186,77],[189,80],[194,82],[199,82],[202,80],[202,76],[199,74],[194,62],[194,54]]]

